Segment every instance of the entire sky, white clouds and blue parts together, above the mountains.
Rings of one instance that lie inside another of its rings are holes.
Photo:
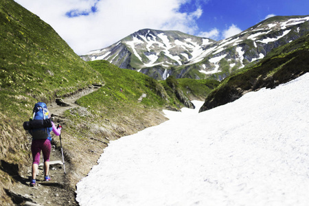
[[[216,41],[268,16],[309,15],[308,0],[14,0],[49,23],[77,54],[136,32],[179,30]]]

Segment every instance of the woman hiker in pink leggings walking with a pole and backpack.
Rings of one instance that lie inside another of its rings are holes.
[[[41,103],[41,105],[37,105]],[[34,117],[33,119],[49,119],[50,114],[47,110],[47,106],[43,102],[38,102],[34,106]],[[41,113],[41,114],[40,114]],[[43,117],[42,117],[43,114]],[[51,121],[52,122],[52,121]],[[36,130],[29,130],[29,133],[32,135],[32,145],[31,145],[31,152],[33,157],[33,163],[32,163],[32,180],[30,182],[30,186],[34,187],[36,185],[36,174],[38,174],[38,165],[40,163],[40,156],[41,151],[43,153],[44,158],[44,181],[49,181],[50,177],[48,175],[49,172],[49,156],[50,152],[52,150],[52,136],[50,133],[53,131],[55,135],[59,136],[61,132],[61,126],[56,128],[54,122],[52,122],[52,127],[50,128],[40,128],[37,130],[40,133],[38,133]],[[42,131],[46,131],[42,134]]]

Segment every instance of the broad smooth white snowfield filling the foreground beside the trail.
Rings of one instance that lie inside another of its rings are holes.
[[[109,144],[78,183],[78,203],[308,205],[308,82],[203,113],[165,111],[169,121]]]

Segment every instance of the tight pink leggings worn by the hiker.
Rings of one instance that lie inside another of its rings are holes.
[[[49,161],[50,151],[52,150],[49,139],[37,139],[32,141],[31,152],[34,164],[38,165],[40,163],[41,150],[44,161]]]

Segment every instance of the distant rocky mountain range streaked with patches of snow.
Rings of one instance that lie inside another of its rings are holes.
[[[108,60],[157,80],[176,78],[222,80],[273,48],[286,45],[309,31],[309,16],[274,16],[222,41],[178,31],[139,30],[119,42],[81,56]]]

